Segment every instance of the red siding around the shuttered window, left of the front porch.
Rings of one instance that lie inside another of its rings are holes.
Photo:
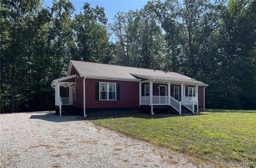
[[[96,82],[118,83],[119,92],[120,92],[119,100],[95,100],[95,83]],[[86,108],[139,107],[139,82],[86,78],[85,79],[85,103],[86,103],[85,105]],[[79,105],[78,107],[83,107],[83,106]]]

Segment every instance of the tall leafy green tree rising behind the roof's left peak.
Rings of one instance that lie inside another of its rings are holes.
[[[83,6],[83,13],[75,15],[73,28],[78,60],[107,63],[109,42],[107,33],[107,18],[103,7],[91,7],[89,3]]]

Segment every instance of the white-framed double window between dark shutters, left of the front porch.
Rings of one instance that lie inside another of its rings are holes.
[[[116,100],[116,83],[100,82],[100,100]]]

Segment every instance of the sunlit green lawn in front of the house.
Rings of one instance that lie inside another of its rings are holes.
[[[133,114],[89,119],[198,161],[256,162],[256,111],[207,110],[194,116]]]

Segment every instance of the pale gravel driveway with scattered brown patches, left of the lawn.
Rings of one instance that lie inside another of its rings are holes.
[[[1,114],[1,167],[196,167],[185,156],[51,111]]]

